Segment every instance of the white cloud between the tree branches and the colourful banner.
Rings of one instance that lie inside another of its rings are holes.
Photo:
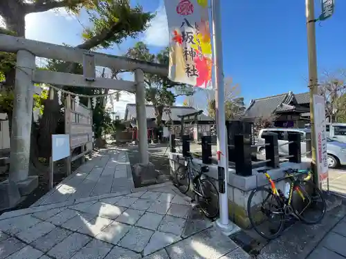
[[[144,33],[143,41],[150,46],[166,47],[170,41],[165,6],[156,10],[152,24]]]

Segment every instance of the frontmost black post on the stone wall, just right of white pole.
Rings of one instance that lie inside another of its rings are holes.
[[[237,175],[250,176],[253,174],[251,164],[251,140],[244,135],[235,135],[235,172]]]

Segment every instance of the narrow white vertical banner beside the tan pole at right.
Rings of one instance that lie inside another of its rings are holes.
[[[316,135],[316,167],[320,182],[328,177],[327,161],[327,136],[325,132],[325,98],[320,95],[313,95],[313,120],[315,122]]]

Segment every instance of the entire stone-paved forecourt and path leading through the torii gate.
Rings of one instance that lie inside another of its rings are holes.
[[[131,187],[102,150],[33,207],[0,215],[0,259],[249,258],[171,184]]]

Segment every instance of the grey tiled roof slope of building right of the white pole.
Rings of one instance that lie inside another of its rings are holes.
[[[246,117],[270,117],[277,106],[284,102],[287,93],[255,99],[245,112]]]

